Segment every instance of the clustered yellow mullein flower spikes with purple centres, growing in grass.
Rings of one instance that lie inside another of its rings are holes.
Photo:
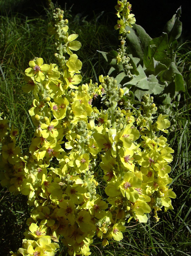
[[[118,1],[118,27],[135,22],[129,6]],[[14,256],[53,256],[58,242],[69,255],[90,255],[95,236],[106,246],[123,239],[125,222],[146,223],[152,210],[158,221],[157,211],[173,209],[168,174],[174,151],[157,136],[168,132],[167,116],[154,121],[157,107],[150,95],[139,108],[125,101],[113,77],[79,85],[82,62],[73,52],[81,43],[77,34],[68,34],[63,14],[54,10],[49,27],[57,64],[35,58],[25,70],[23,90],[33,92],[29,113],[36,127],[27,153],[16,146],[18,129],[0,115],[1,185],[26,195],[33,209]],[[98,101],[100,109],[94,106]],[[97,190],[98,175],[104,191]]]

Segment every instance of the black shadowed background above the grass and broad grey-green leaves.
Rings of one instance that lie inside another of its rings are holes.
[[[117,0],[93,0],[93,1],[80,1],[80,0],[53,0],[53,3],[58,3],[62,9],[71,9],[73,14],[81,14],[87,16],[87,20],[91,19],[95,14],[104,11],[101,19],[113,26],[116,24],[116,15],[114,6]],[[173,0],[134,0],[129,1],[132,4],[132,13],[135,14],[137,24],[141,25],[146,32],[152,37],[158,37],[163,31],[166,22],[172,18],[176,10],[181,6],[182,15],[180,20],[183,22],[184,41],[191,39],[190,27],[190,8],[188,1],[173,1]],[[11,0],[0,0],[0,14],[21,13],[24,16],[44,16],[46,12],[43,6],[47,7],[47,0],[17,0],[13,4]],[[101,22],[101,20],[99,20]]]

